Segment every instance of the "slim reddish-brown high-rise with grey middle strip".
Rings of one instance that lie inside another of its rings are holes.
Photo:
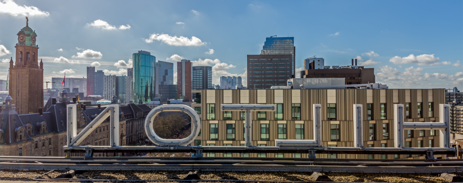
[[[177,95],[192,100],[193,63],[189,60],[177,61]]]

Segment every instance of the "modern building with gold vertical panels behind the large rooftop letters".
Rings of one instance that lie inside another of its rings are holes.
[[[244,145],[244,112],[221,111],[220,104],[276,104],[276,112],[252,113],[252,145],[275,140],[312,140],[312,106],[321,104],[326,147],[353,147],[353,104],[362,104],[365,147],[393,147],[393,105],[404,104],[405,122],[439,121],[444,89],[242,89],[201,90],[192,107],[201,117],[201,136],[192,145]],[[439,147],[438,130],[407,130],[407,147]],[[199,139],[201,140],[199,142]],[[307,154],[215,153],[206,156],[307,157]],[[317,158],[420,158],[415,155],[317,154]],[[439,157],[439,156],[437,156]],[[424,157],[423,157],[424,158]]]

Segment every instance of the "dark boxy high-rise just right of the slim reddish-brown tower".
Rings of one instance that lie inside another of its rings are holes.
[[[193,87],[192,90],[212,89],[212,67],[193,66]]]

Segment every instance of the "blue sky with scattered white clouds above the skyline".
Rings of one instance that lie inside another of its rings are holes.
[[[78,2],[0,0],[0,79],[27,16],[44,81],[86,77],[91,65],[127,74],[132,54],[145,50],[174,68],[181,59],[212,66],[214,84],[241,76],[246,85],[247,55],[260,54],[265,38],[277,35],[294,37],[297,78],[306,58],[341,66],[357,58],[389,88],[463,90],[461,0]]]

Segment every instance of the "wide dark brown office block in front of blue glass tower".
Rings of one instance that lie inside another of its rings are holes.
[[[248,88],[286,86],[286,81],[292,75],[292,57],[290,54],[248,55]]]

